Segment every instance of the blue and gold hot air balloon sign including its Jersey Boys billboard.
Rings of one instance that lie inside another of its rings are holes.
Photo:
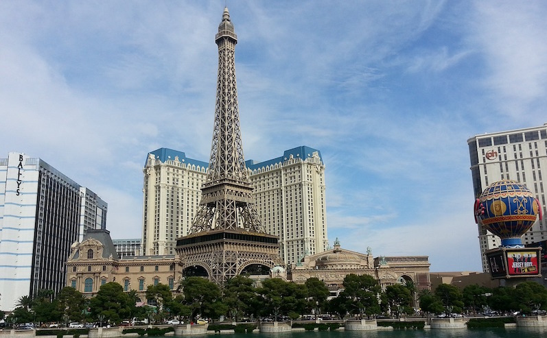
[[[499,248],[485,252],[492,278],[541,276],[541,248],[527,248],[521,237],[542,219],[542,208],[524,184],[501,180],[475,201],[475,221],[500,237]]]

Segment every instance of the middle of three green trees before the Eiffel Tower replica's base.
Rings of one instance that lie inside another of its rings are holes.
[[[230,278],[222,290],[224,304],[228,306],[228,317],[235,322],[253,313],[252,304],[257,297],[254,281],[246,276]]]

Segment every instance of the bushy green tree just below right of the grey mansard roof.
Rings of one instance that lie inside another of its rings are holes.
[[[97,295],[91,298],[91,316],[94,319],[102,316],[102,322],[119,324],[122,319],[129,318],[131,302],[129,295],[124,292],[124,287],[117,282],[108,282],[101,285]]]

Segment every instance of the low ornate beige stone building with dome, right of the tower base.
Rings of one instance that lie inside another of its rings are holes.
[[[414,282],[417,289],[430,289],[428,256],[380,256],[373,258],[369,248],[366,254],[340,248],[338,239],[334,249],[305,256],[301,263],[292,267],[288,276],[294,282],[303,284],[307,278],[323,280],[331,295],[342,291],[342,282],[348,274],[367,274],[380,282],[382,289],[395,283]]]

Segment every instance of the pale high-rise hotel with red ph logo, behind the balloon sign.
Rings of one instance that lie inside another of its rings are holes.
[[[547,171],[547,123],[532,128],[476,135],[467,140],[475,198],[489,184],[515,180],[528,187],[542,204],[546,215],[543,176]],[[530,244],[547,239],[547,219],[537,221],[524,234],[522,242]],[[488,271],[485,251],[498,248],[500,238],[478,225],[482,271]]]

